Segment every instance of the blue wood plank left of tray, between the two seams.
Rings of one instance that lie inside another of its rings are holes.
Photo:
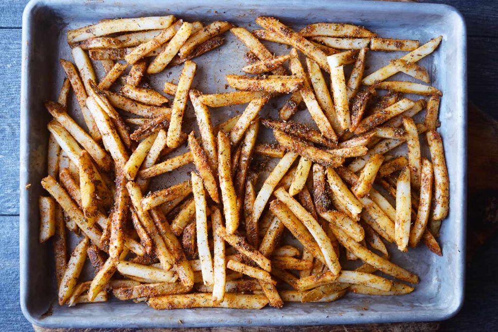
[[[21,30],[0,29],[0,214],[19,214]]]

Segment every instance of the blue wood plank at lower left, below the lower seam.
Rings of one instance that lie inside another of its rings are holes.
[[[0,330],[30,331],[19,305],[19,217],[0,217]]]

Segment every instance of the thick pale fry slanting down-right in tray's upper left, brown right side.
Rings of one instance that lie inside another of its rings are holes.
[[[109,149],[116,166],[123,168],[129,156],[111,118],[92,97],[88,97],[87,105],[97,123],[97,127],[103,134],[102,141]]]

